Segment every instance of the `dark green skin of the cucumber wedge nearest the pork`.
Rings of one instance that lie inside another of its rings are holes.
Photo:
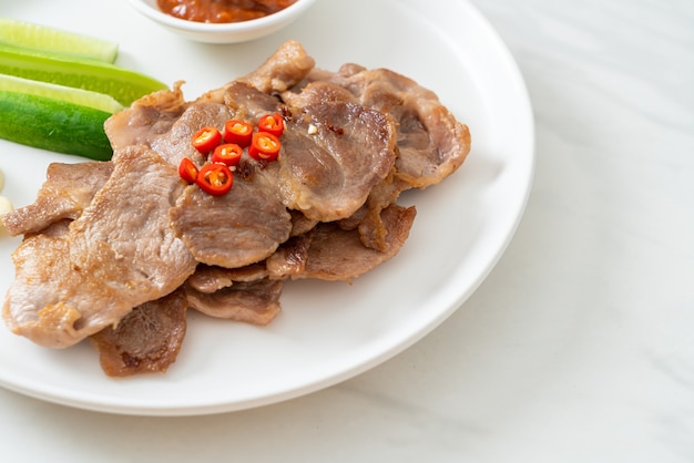
[[[43,96],[0,91],[0,138],[55,153],[109,161],[103,123],[111,114]]]

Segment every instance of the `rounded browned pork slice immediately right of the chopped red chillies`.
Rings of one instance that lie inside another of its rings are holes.
[[[243,82],[226,88],[225,102],[252,119],[286,115],[282,156],[259,172],[284,205],[307,218],[351,216],[396,162],[396,126],[384,113],[355,103],[310,100],[286,106]]]

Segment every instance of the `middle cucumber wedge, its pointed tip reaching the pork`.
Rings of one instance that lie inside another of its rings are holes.
[[[20,52],[2,45],[0,73],[105,93],[124,106],[143,95],[166,89],[155,79],[113,64]]]

